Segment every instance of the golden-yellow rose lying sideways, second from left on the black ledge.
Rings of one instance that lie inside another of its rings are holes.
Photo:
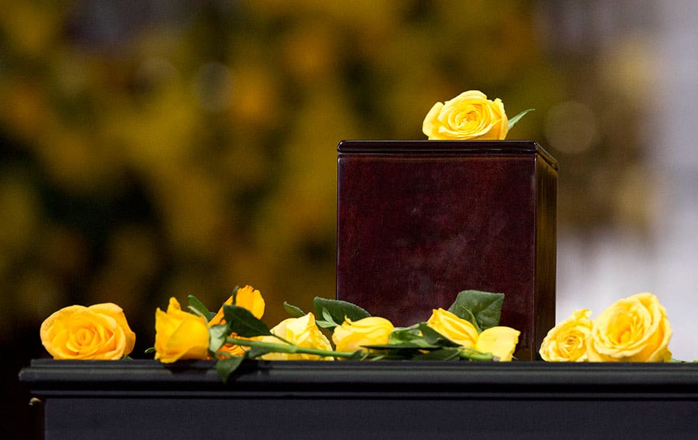
[[[209,349],[209,328],[202,316],[182,311],[170,298],[168,311],[155,311],[155,358],[169,364],[180,359],[205,359]]]

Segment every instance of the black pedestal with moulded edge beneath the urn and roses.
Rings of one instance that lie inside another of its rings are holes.
[[[36,360],[48,440],[695,439],[698,365]]]

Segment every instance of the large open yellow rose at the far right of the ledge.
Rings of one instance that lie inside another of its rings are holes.
[[[671,326],[652,293],[614,302],[597,318],[586,344],[590,362],[666,362]]]

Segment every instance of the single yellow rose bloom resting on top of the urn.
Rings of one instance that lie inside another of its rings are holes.
[[[499,98],[487,99],[482,91],[464,91],[450,101],[436,103],[422,123],[429,139],[502,140],[509,132],[509,120]]]

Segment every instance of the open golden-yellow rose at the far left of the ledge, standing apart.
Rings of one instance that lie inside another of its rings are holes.
[[[39,333],[54,359],[121,359],[135,344],[124,310],[111,302],[64,307],[41,323]]]

